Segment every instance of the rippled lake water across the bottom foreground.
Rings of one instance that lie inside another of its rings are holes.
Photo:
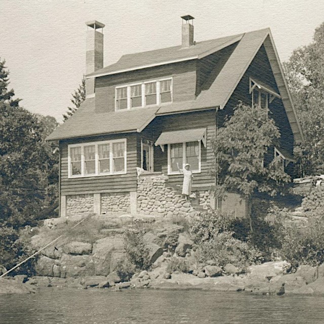
[[[324,297],[246,293],[43,289],[0,295],[1,324],[322,324]]]

